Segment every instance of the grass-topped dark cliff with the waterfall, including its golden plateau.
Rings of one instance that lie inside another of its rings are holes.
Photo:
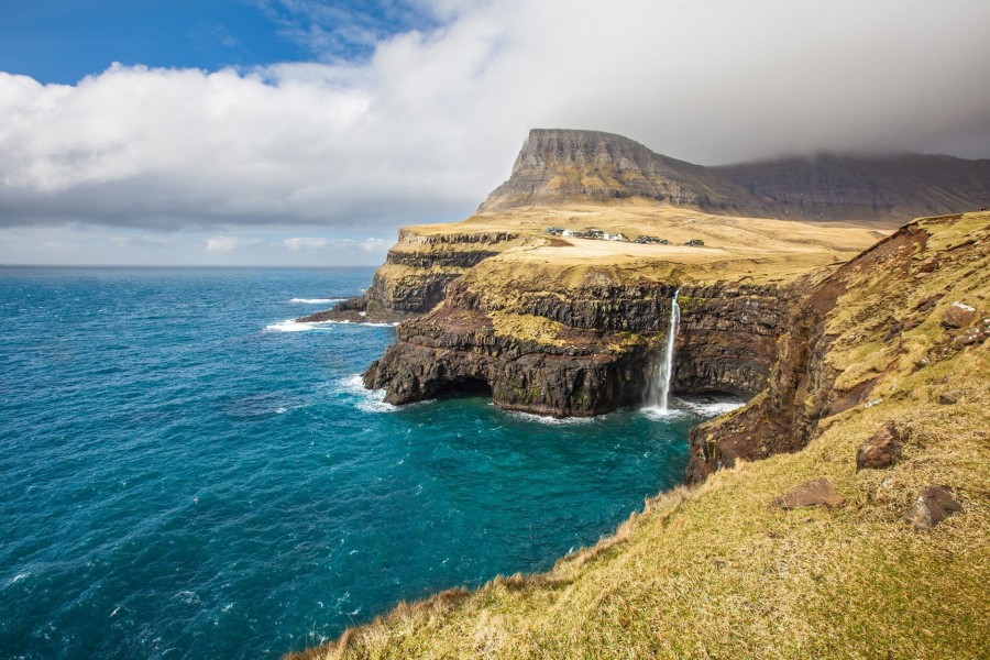
[[[562,224],[659,232],[671,244],[547,238],[534,231],[543,218],[503,216],[529,238],[448,280],[441,302],[398,328],[365,385],[393,404],[481,389],[502,408],[558,417],[637,405],[680,292],[675,389],[751,396],[801,293],[875,240],[866,229],[649,208],[562,212],[579,213]],[[459,231],[471,226],[501,227]],[[684,245],[701,237],[703,246]]]

